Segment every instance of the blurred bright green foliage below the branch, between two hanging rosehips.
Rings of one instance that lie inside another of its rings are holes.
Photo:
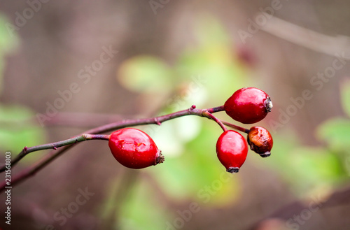
[[[213,164],[217,161],[215,145],[218,135],[220,129],[215,125],[203,126],[193,141],[185,143],[179,157],[169,157],[167,164],[152,168],[151,173],[158,185],[172,200],[191,199],[210,206],[227,206],[237,199],[237,179],[228,174],[225,178],[230,178],[230,182],[221,180],[218,175],[225,172],[225,168]]]

